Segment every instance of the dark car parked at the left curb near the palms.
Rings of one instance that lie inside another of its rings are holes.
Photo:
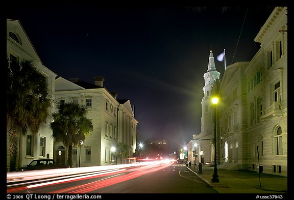
[[[69,168],[69,165],[56,165],[53,159],[35,159],[30,162],[26,167],[21,167],[18,171],[26,170],[40,170],[40,169],[57,169]]]

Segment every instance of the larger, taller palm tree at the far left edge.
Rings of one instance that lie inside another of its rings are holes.
[[[7,59],[6,125],[9,134],[10,171],[16,169],[17,141],[28,130],[37,133],[49,115],[51,99],[45,77],[32,60],[10,62]]]

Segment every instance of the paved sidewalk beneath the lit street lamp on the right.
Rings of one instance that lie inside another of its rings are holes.
[[[219,193],[288,193],[287,177],[260,173],[259,179],[257,172],[218,168],[219,182],[212,183],[213,166],[202,165],[202,174],[198,173],[197,165],[186,167]]]

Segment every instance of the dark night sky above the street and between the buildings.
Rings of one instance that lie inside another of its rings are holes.
[[[135,106],[142,141],[165,139],[176,151],[201,132],[210,49],[220,78],[224,62],[216,56],[224,48],[227,66],[251,61],[273,9],[28,6],[7,18],[20,21],[47,68],[90,83],[103,76],[108,91]]]

